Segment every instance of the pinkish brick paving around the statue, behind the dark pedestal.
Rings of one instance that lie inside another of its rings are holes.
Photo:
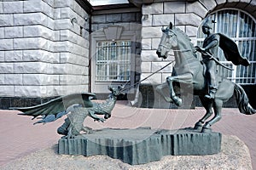
[[[93,122],[90,118],[84,124],[93,128],[102,127],[152,127],[176,129],[190,127],[204,114],[202,108],[195,110],[156,110],[131,108],[119,101],[113,116],[104,123]],[[21,156],[48,148],[61,137],[56,128],[62,122],[57,120],[45,125],[35,125],[27,116],[18,116],[17,111],[0,111],[0,167]],[[250,149],[253,167],[256,169],[256,114],[245,116],[237,109],[224,109],[223,118],[213,127],[214,131],[232,134],[242,139]]]

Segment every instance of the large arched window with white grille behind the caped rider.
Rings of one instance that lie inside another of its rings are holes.
[[[241,56],[246,57],[251,65],[233,65],[224,58],[223,51],[218,50],[218,59],[234,69],[229,71],[218,67],[218,72],[228,77],[232,82],[240,84],[256,83],[256,26],[255,20],[249,14],[236,9],[222,9],[210,15],[216,23],[212,25],[212,32],[220,32],[231,37],[238,45]],[[205,35],[199,28],[197,35],[198,45],[202,45]]]

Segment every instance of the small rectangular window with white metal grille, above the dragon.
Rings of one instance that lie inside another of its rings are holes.
[[[130,81],[131,42],[96,42],[96,81]]]

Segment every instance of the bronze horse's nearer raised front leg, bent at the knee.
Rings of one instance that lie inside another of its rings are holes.
[[[175,94],[172,82],[182,82],[182,83],[191,84],[192,79],[193,79],[193,77],[192,77],[191,73],[185,73],[185,74],[182,74],[182,75],[166,78],[166,82],[168,82],[169,89],[170,89],[170,97],[173,100],[175,105],[181,106],[182,105],[182,99],[177,97],[177,95]]]

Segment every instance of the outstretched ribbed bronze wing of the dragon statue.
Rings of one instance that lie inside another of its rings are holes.
[[[67,115],[67,108],[71,105],[80,105],[82,107],[92,107],[93,103],[90,101],[91,98],[95,97],[95,94],[82,93],[82,94],[69,94],[66,96],[61,96],[56,99],[52,99],[47,103],[42,105],[35,105],[32,107],[13,107],[10,109],[18,110],[23,113],[19,115],[22,116],[33,116],[32,119],[38,117],[41,119],[36,123],[42,122],[54,122],[61,116]]]

